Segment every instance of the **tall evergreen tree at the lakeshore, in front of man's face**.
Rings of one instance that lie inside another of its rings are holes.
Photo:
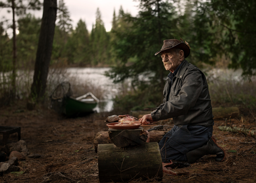
[[[137,103],[157,106],[161,103],[165,71],[162,59],[154,53],[162,47],[163,40],[177,34],[177,18],[171,3],[164,0],[143,0],[137,17],[120,10],[117,41],[114,45],[120,63],[112,67],[107,76],[115,82],[131,79]],[[143,77],[141,75],[143,74]],[[134,96],[133,96],[134,98]],[[117,99],[117,103],[122,98]],[[121,104],[122,105],[122,104]]]

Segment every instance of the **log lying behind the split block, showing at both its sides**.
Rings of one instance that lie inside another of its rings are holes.
[[[160,142],[160,140],[164,137],[166,133],[167,131],[149,131],[150,142]],[[98,144],[112,144],[108,135],[108,131],[99,131],[93,139],[93,144],[96,153],[98,150]]]

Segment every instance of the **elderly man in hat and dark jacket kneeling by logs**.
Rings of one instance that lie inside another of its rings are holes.
[[[206,77],[185,60],[190,47],[180,40],[165,40],[162,49],[155,53],[161,55],[165,69],[170,71],[163,91],[164,100],[139,121],[149,124],[173,119],[174,127],[159,142],[162,162],[193,163],[206,154],[217,155],[215,160],[223,161],[225,152],[212,137],[214,120]]]

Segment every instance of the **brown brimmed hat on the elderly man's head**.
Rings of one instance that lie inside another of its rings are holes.
[[[190,54],[190,46],[189,44],[185,41],[184,41],[180,38],[180,41],[178,39],[167,39],[167,40],[164,40],[164,44],[162,46],[162,49],[158,52],[155,53],[155,55],[167,50],[167,49],[172,49],[172,48],[179,48],[179,49],[182,49],[183,52],[184,52],[184,56],[185,58],[188,57],[188,55]]]

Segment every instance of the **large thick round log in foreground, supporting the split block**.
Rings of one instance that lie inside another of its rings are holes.
[[[157,142],[136,148],[98,146],[99,182],[128,182],[138,178],[162,180],[162,158]]]

